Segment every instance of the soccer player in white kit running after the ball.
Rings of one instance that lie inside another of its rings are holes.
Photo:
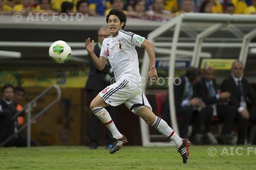
[[[188,139],[180,138],[163,119],[152,112],[152,108],[141,90],[138,54],[135,45],[145,47],[150,58],[150,71],[148,71],[147,78],[156,83],[158,77],[155,68],[154,45],[144,37],[123,30],[126,15],[121,10],[112,9],[106,16],[106,22],[111,36],[103,40],[100,57],[98,58],[93,52],[94,40],[92,42],[90,38],[86,40],[86,49],[99,70],[105,67],[107,60],[114,70],[116,83],[99,92],[90,105],[92,112],[108,127],[113,135],[114,142],[110,154],[119,151],[127,139],[117,130],[110,114],[104,107],[118,106],[124,103],[128,109],[142,117],[148,125],[173,140],[183,158],[183,163],[186,163],[188,160]]]

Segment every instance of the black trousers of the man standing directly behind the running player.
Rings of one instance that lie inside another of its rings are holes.
[[[89,91],[90,100],[92,101],[99,91]],[[105,109],[110,113],[112,120],[114,120],[115,108],[112,106],[105,107]],[[90,145],[99,145],[99,125],[104,126],[100,119],[93,113],[91,115],[90,121]],[[113,137],[108,128],[105,127],[105,145],[112,144]]]

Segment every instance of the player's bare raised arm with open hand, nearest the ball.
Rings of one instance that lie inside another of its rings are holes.
[[[94,51],[94,40],[91,42],[91,39],[88,38],[86,40],[86,50],[88,51],[88,54],[91,56],[93,63],[95,66],[98,68],[98,70],[104,69],[106,65],[106,58],[100,56],[99,58],[96,56],[96,54],[93,52]]]

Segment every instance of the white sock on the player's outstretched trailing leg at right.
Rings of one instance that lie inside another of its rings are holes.
[[[153,125],[151,125],[153,128],[156,128],[161,134],[168,137],[169,139],[173,140],[177,146],[177,148],[180,148],[182,144],[182,138],[178,136],[172,128],[168,126],[168,124],[161,119],[160,117],[156,116],[156,120]]]

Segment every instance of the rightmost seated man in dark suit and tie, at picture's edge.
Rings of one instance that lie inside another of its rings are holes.
[[[248,98],[256,105],[256,94],[249,82],[243,77],[243,72],[243,63],[241,61],[234,61],[231,67],[231,75],[221,85],[222,91],[230,92],[230,104],[236,107],[237,110],[237,144],[244,144],[245,142],[247,121],[256,122],[255,113],[249,112],[247,108]]]

